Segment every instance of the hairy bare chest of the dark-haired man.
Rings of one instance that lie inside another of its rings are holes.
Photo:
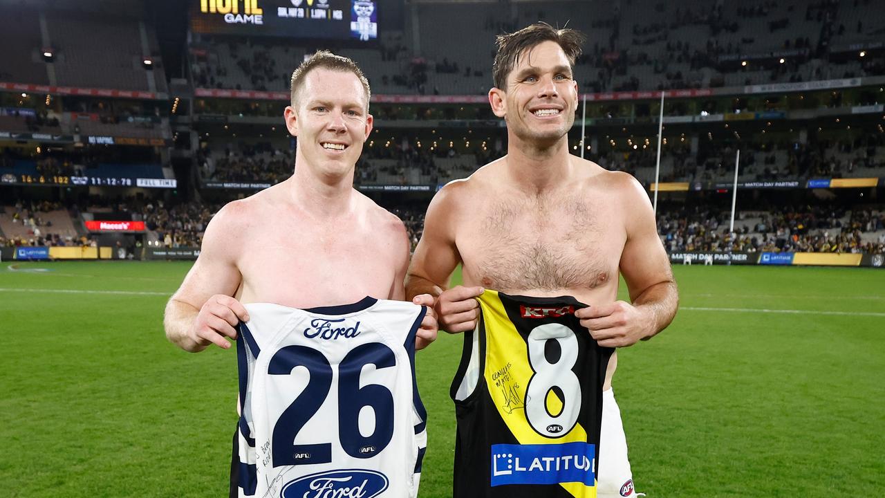
[[[577,198],[496,203],[465,225],[458,250],[475,284],[554,291],[617,282],[625,230],[605,206]]]

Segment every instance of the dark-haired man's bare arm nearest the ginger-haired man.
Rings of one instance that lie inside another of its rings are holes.
[[[405,295],[409,299],[419,294],[439,296],[449,287],[451,272],[461,261],[455,245],[453,218],[458,190],[463,187],[459,183],[449,183],[427,206],[424,233],[405,277]]]

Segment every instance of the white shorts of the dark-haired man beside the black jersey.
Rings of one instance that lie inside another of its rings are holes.
[[[620,420],[614,390],[603,391],[602,433],[599,437],[599,474],[597,498],[634,498],[633,472],[627,459],[627,436]]]

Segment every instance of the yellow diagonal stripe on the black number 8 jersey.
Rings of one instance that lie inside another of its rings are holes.
[[[581,424],[575,424],[571,431],[558,438],[542,436],[528,424],[526,387],[535,372],[528,363],[526,341],[507,317],[496,291],[487,289],[478,300],[486,329],[486,368],[483,375],[501,419],[519,444],[586,442],[587,432]],[[562,410],[562,401],[552,392],[543,402],[551,414],[558,414]],[[576,498],[596,498],[596,486],[586,486],[580,482],[560,483],[559,486]]]

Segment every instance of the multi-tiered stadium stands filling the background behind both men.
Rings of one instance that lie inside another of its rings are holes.
[[[0,54],[0,82],[106,91],[56,94],[6,87],[0,92],[0,131],[16,133],[19,142],[0,146],[0,175],[12,175],[7,180],[28,175],[28,181],[41,184],[42,179],[69,176],[177,179],[181,192],[173,193],[174,183],[159,183],[169,190],[127,191],[122,196],[128,210],[122,215],[147,222],[148,230],[139,237],[149,245],[198,245],[205,223],[224,202],[248,195],[249,185],[279,183],[291,175],[295,141],[281,126],[289,76],[306,54],[326,46],[358,60],[373,95],[384,96],[372,104],[375,131],[358,162],[355,183],[370,195],[387,189],[377,200],[401,214],[412,242],[417,241],[421,214],[439,185],[503,156],[504,128],[482,97],[491,85],[495,35],[538,19],[589,35],[577,61],[582,92],[715,89],[704,97],[668,97],[660,182],[686,183],[693,189],[730,183],[738,149],[741,183],[875,181],[885,170],[885,129],[876,121],[882,112],[881,80],[868,78],[885,74],[885,58],[875,44],[885,27],[870,0],[416,0],[402,7],[400,22],[385,25],[379,39],[365,45],[189,33],[176,47],[186,52],[180,68],[163,63],[169,51],[161,49],[159,40],[169,34],[158,22],[162,18],[149,20],[132,11],[135,4],[121,8],[124,14],[7,9],[11,12],[0,21],[7,27],[0,39],[12,50]],[[96,40],[101,41],[100,57]],[[50,61],[43,58],[43,49],[52,51]],[[154,61],[152,69],[143,66],[144,58]],[[167,69],[177,73],[172,84]],[[850,85],[827,82],[843,78]],[[745,85],[801,82],[814,83],[801,91],[744,93]],[[204,92],[191,99],[197,89],[280,93],[251,98]],[[139,91],[146,94],[132,93]],[[391,98],[422,94],[441,101],[401,104]],[[447,96],[455,97],[445,103]],[[570,133],[573,153],[583,149],[590,160],[635,175],[650,187],[655,181],[658,110],[654,97],[646,97],[604,97],[589,104],[585,136],[578,136],[579,125]],[[35,133],[51,134],[52,142],[28,135]],[[412,198],[389,193],[413,186],[428,193]],[[102,198],[106,204],[118,193],[101,186],[90,189],[98,211],[88,209],[85,216],[121,213],[119,205],[102,211],[108,208]],[[19,190],[16,195],[35,202],[61,198],[71,206],[72,198],[81,194]],[[690,204],[687,195],[675,194]],[[832,196],[820,197],[836,202]],[[742,212],[739,206],[739,235],[732,247],[879,251],[881,209],[874,200],[856,206],[856,200],[840,198],[833,207],[841,213],[838,224],[822,227],[815,221],[813,230],[802,233],[794,233],[791,223],[800,220],[810,226],[809,217],[818,220],[820,213],[799,209],[784,218],[778,217],[776,205],[755,212]],[[665,196],[665,201],[673,198]],[[669,227],[661,230],[668,248],[731,246],[730,236],[722,233],[724,211],[703,203],[699,211],[686,209],[661,212],[662,225]],[[864,212],[870,214],[864,217]],[[77,227],[82,216],[74,213],[69,218],[78,233],[73,235],[81,236]],[[758,230],[763,225],[766,230]],[[12,229],[19,229],[13,230],[16,237],[28,235],[20,233],[21,225]],[[703,236],[698,233],[702,229]]]

